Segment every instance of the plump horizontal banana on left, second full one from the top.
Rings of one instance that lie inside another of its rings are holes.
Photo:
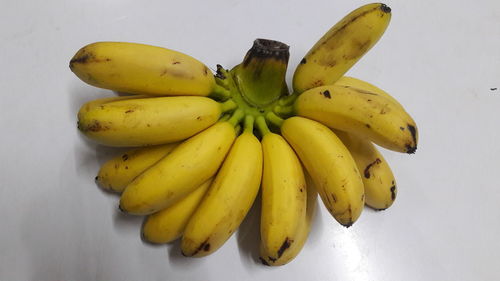
[[[213,125],[234,107],[207,97],[102,99],[83,105],[78,129],[109,146],[148,146],[184,140]]]

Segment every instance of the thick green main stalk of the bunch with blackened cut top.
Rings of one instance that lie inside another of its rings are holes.
[[[265,107],[288,94],[285,82],[289,46],[278,41],[257,39],[245,59],[231,70],[245,101]]]

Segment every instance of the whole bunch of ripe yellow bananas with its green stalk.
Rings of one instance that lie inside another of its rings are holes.
[[[121,193],[120,209],[144,215],[143,238],[181,238],[185,256],[213,253],[261,192],[261,261],[282,265],[303,247],[317,194],[349,227],[364,205],[386,209],[396,183],[373,143],[414,153],[417,127],[393,97],[344,76],[382,36],[391,10],[362,6],[334,25],[285,75],[289,47],[257,39],[243,62],[213,74],[160,47],[99,42],[71,70],[84,82],[134,95],[94,100],[78,128],[103,145],[135,147],[96,180]]]

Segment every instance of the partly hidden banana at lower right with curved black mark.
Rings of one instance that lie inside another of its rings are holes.
[[[362,172],[366,205],[377,210],[389,208],[396,199],[396,180],[382,154],[368,140],[341,131],[335,134],[349,149]]]

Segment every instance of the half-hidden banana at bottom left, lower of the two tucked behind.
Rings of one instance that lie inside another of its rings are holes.
[[[179,238],[211,183],[212,179],[207,180],[174,205],[147,216],[142,225],[144,240],[163,244]]]

